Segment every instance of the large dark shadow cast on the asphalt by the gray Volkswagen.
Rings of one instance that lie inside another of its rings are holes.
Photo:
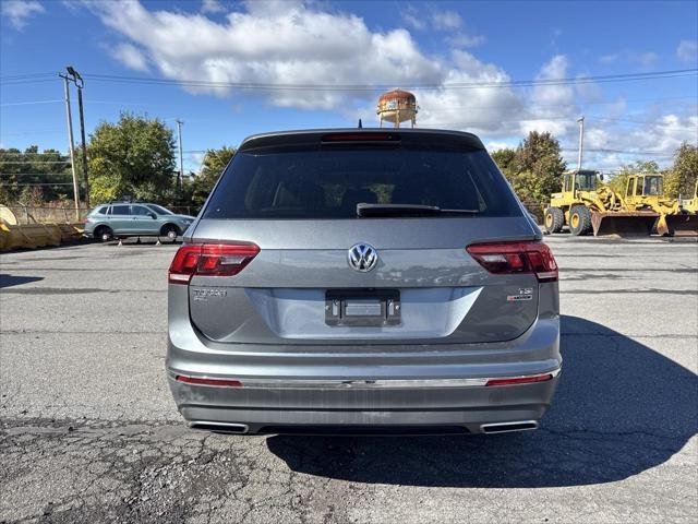
[[[564,371],[541,429],[470,437],[267,439],[296,472],[357,483],[533,488],[610,483],[698,430],[698,377],[615,331],[562,318]],[[694,342],[686,342],[686,346]]]

